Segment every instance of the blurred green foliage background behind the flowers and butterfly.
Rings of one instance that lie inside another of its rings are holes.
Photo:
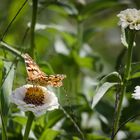
[[[0,0],[1,36],[23,2]],[[67,78],[63,87],[52,89],[63,108],[38,118],[30,139],[80,140],[84,139],[83,135],[86,140],[110,139],[117,90],[111,88],[94,109],[92,99],[102,77],[113,71],[123,72],[126,48],[121,44],[116,15],[126,8],[139,7],[139,0],[38,1],[34,60],[46,74],[66,74]],[[3,39],[23,53],[29,53],[31,18],[32,1],[29,0]],[[133,62],[140,60],[139,37],[138,33]],[[3,59],[13,61],[15,57],[4,47],[0,49],[0,69]],[[24,62],[19,59],[13,89],[25,84],[26,77]],[[139,82],[139,77],[130,80],[121,122],[139,113],[139,101],[131,99]],[[11,112],[7,126],[9,139],[21,139],[26,117],[14,107]],[[121,128],[119,140],[138,139],[139,131],[140,120],[136,118]]]

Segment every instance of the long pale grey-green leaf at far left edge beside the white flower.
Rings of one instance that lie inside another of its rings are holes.
[[[7,120],[9,112],[9,95],[12,92],[12,85],[14,79],[14,65],[11,62],[4,61],[4,68],[2,73],[1,95],[0,95],[0,112],[2,120],[2,139],[7,139]]]

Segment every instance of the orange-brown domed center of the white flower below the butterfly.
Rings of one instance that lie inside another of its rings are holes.
[[[27,104],[34,104],[35,106],[39,106],[43,104],[44,100],[44,92],[41,88],[29,87],[27,88],[27,92],[25,93],[24,101]]]

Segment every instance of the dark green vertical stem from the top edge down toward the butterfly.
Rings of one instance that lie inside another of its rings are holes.
[[[35,49],[35,24],[37,18],[37,4],[38,0],[33,1],[33,9],[32,9],[32,21],[31,21],[31,42],[30,42],[30,55],[31,57],[34,56],[34,49]]]

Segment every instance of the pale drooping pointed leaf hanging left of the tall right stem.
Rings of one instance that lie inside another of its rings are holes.
[[[97,89],[96,95],[93,97],[92,101],[92,109],[96,106],[96,104],[101,100],[101,98],[104,96],[104,94],[114,85],[117,85],[118,83],[109,83],[105,82],[101,87]]]

